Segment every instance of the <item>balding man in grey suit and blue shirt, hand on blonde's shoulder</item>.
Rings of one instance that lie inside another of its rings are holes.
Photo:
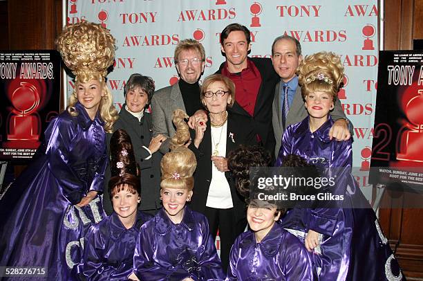
[[[274,89],[272,105],[272,125],[276,146],[275,157],[279,154],[283,132],[288,125],[301,122],[308,116],[301,97],[301,87],[296,75],[297,68],[303,60],[301,44],[289,35],[279,36],[272,44],[272,64],[279,75],[279,82]],[[287,98],[285,100],[285,98]],[[339,99],[335,101],[335,108],[330,112],[335,120],[330,129],[330,139],[346,141],[353,134],[353,125],[346,118]]]

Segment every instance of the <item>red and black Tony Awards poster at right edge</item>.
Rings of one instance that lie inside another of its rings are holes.
[[[381,51],[370,183],[423,191],[423,51]]]

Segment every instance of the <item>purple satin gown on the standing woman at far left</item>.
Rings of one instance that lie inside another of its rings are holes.
[[[47,272],[19,280],[72,280],[82,257],[80,239],[105,217],[99,195],[75,206],[87,192],[102,192],[107,164],[100,115],[91,120],[82,105],[75,109],[78,116],[64,111],[50,122],[32,163],[0,201],[0,266],[43,266]]]

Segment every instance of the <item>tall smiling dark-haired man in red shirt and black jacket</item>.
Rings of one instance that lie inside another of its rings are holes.
[[[279,81],[268,58],[248,57],[251,51],[250,30],[241,24],[229,24],[220,33],[220,48],[226,61],[216,73],[227,76],[235,83],[235,103],[229,109],[252,118],[257,141],[274,151],[272,129],[272,101],[274,87]]]

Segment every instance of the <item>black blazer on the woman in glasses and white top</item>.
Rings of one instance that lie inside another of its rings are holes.
[[[207,195],[209,194],[210,183],[212,181],[213,163],[210,160],[212,157],[212,134],[210,132],[210,120],[208,120],[203,141],[198,146],[198,149],[195,147],[194,141],[189,145],[189,148],[197,158],[197,168],[196,172],[194,172],[194,190],[190,207],[192,210],[202,213],[205,212]],[[195,131],[191,130],[191,139],[194,140],[195,136]],[[226,157],[229,155],[229,152],[241,144],[256,145],[256,132],[252,127],[251,118],[228,111]],[[236,221],[240,221],[246,216],[245,199],[236,191],[232,172],[225,172],[225,176],[231,190],[232,203],[234,204],[234,210],[237,215]]]

